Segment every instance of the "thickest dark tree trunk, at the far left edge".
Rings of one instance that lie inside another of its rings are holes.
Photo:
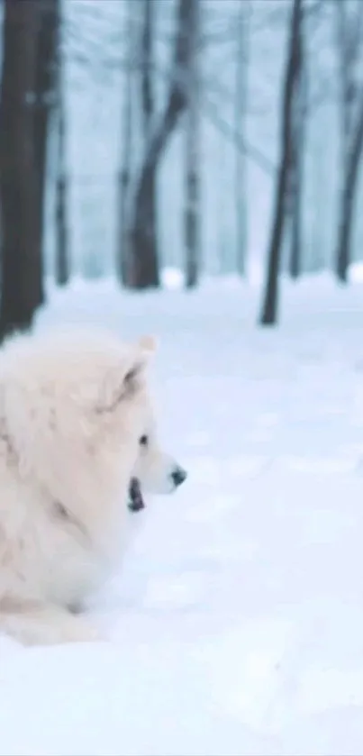
[[[43,301],[40,182],[34,139],[41,5],[5,0],[0,105],[1,337],[31,326]]]

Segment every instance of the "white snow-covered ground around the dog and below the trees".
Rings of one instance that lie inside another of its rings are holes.
[[[363,286],[52,296],[40,327],[159,334],[162,432],[189,470],[89,611],[109,642],[0,640],[0,753],[363,752]],[[143,519],[144,517],[144,519]]]

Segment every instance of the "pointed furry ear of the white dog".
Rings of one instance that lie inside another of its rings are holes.
[[[97,406],[98,412],[113,412],[123,399],[140,390],[151,356],[152,351],[141,347],[139,343],[128,360],[123,360],[117,368],[108,371]]]

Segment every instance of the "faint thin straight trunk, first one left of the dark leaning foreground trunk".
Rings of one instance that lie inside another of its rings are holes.
[[[248,66],[249,66],[249,19],[250,4],[246,0],[239,0],[238,9],[238,46],[236,61],[236,92],[235,92],[235,130],[244,138],[247,116],[248,98]],[[236,247],[237,271],[243,278],[246,275],[247,253],[247,160],[241,150],[236,150],[235,172],[236,199]]]

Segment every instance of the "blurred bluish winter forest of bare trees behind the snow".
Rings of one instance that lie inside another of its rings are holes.
[[[1,335],[47,282],[363,262],[361,0],[2,0]],[[241,289],[241,296],[243,290]]]

